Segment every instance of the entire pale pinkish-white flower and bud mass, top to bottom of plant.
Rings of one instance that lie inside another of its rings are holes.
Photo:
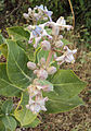
[[[36,13],[36,11],[38,13]],[[28,9],[28,14],[24,14],[25,19],[32,19],[32,21],[38,20],[49,20],[43,24],[29,25],[27,28],[30,32],[30,37],[28,44],[34,44],[34,47],[37,48],[38,45],[44,51],[49,51],[49,56],[47,58],[41,58],[38,63],[28,61],[27,68],[34,71],[35,80],[32,84],[30,84],[28,88],[29,102],[26,105],[26,108],[30,109],[34,114],[39,112],[40,110],[47,110],[46,102],[49,99],[48,97],[42,96],[43,92],[53,91],[53,85],[48,82],[48,76],[50,74],[54,74],[56,72],[56,68],[51,66],[50,61],[52,56],[54,57],[53,61],[57,62],[57,64],[62,64],[63,62],[74,63],[75,58],[74,53],[76,53],[77,49],[70,50],[67,46],[64,46],[63,36],[60,34],[64,29],[73,29],[72,25],[66,25],[66,21],[63,16],[56,22],[53,22],[51,19],[52,12],[48,11],[47,7],[43,5],[36,7],[34,10]],[[51,34],[47,32],[47,28],[51,31]],[[60,53],[57,53],[60,52]],[[58,56],[57,56],[58,55]]]

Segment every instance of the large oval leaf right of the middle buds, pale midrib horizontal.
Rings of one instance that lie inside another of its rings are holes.
[[[58,70],[51,82],[54,85],[54,92],[62,99],[78,95],[86,86],[86,83],[78,79],[72,70]]]

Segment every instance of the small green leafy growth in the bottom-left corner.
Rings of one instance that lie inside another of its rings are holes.
[[[2,119],[0,121],[1,131],[14,131],[16,128],[16,120],[12,117],[13,102],[5,100],[1,106]]]

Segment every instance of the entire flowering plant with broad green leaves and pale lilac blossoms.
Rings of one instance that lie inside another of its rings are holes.
[[[57,114],[83,104],[78,94],[86,83],[72,70],[60,68],[75,62],[77,49],[70,50],[62,35],[73,26],[63,16],[53,22],[52,14],[43,5],[29,8],[24,17],[32,25],[9,27],[8,39],[0,35],[1,55],[6,58],[0,63],[0,95],[9,98],[0,108],[3,130],[14,131],[18,124],[34,128],[40,123],[37,116],[42,110]],[[21,100],[15,104],[10,97]]]

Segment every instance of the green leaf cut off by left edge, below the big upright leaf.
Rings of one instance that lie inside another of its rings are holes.
[[[0,95],[3,96],[17,96],[21,88],[13,85],[6,75],[6,66],[0,64]]]

